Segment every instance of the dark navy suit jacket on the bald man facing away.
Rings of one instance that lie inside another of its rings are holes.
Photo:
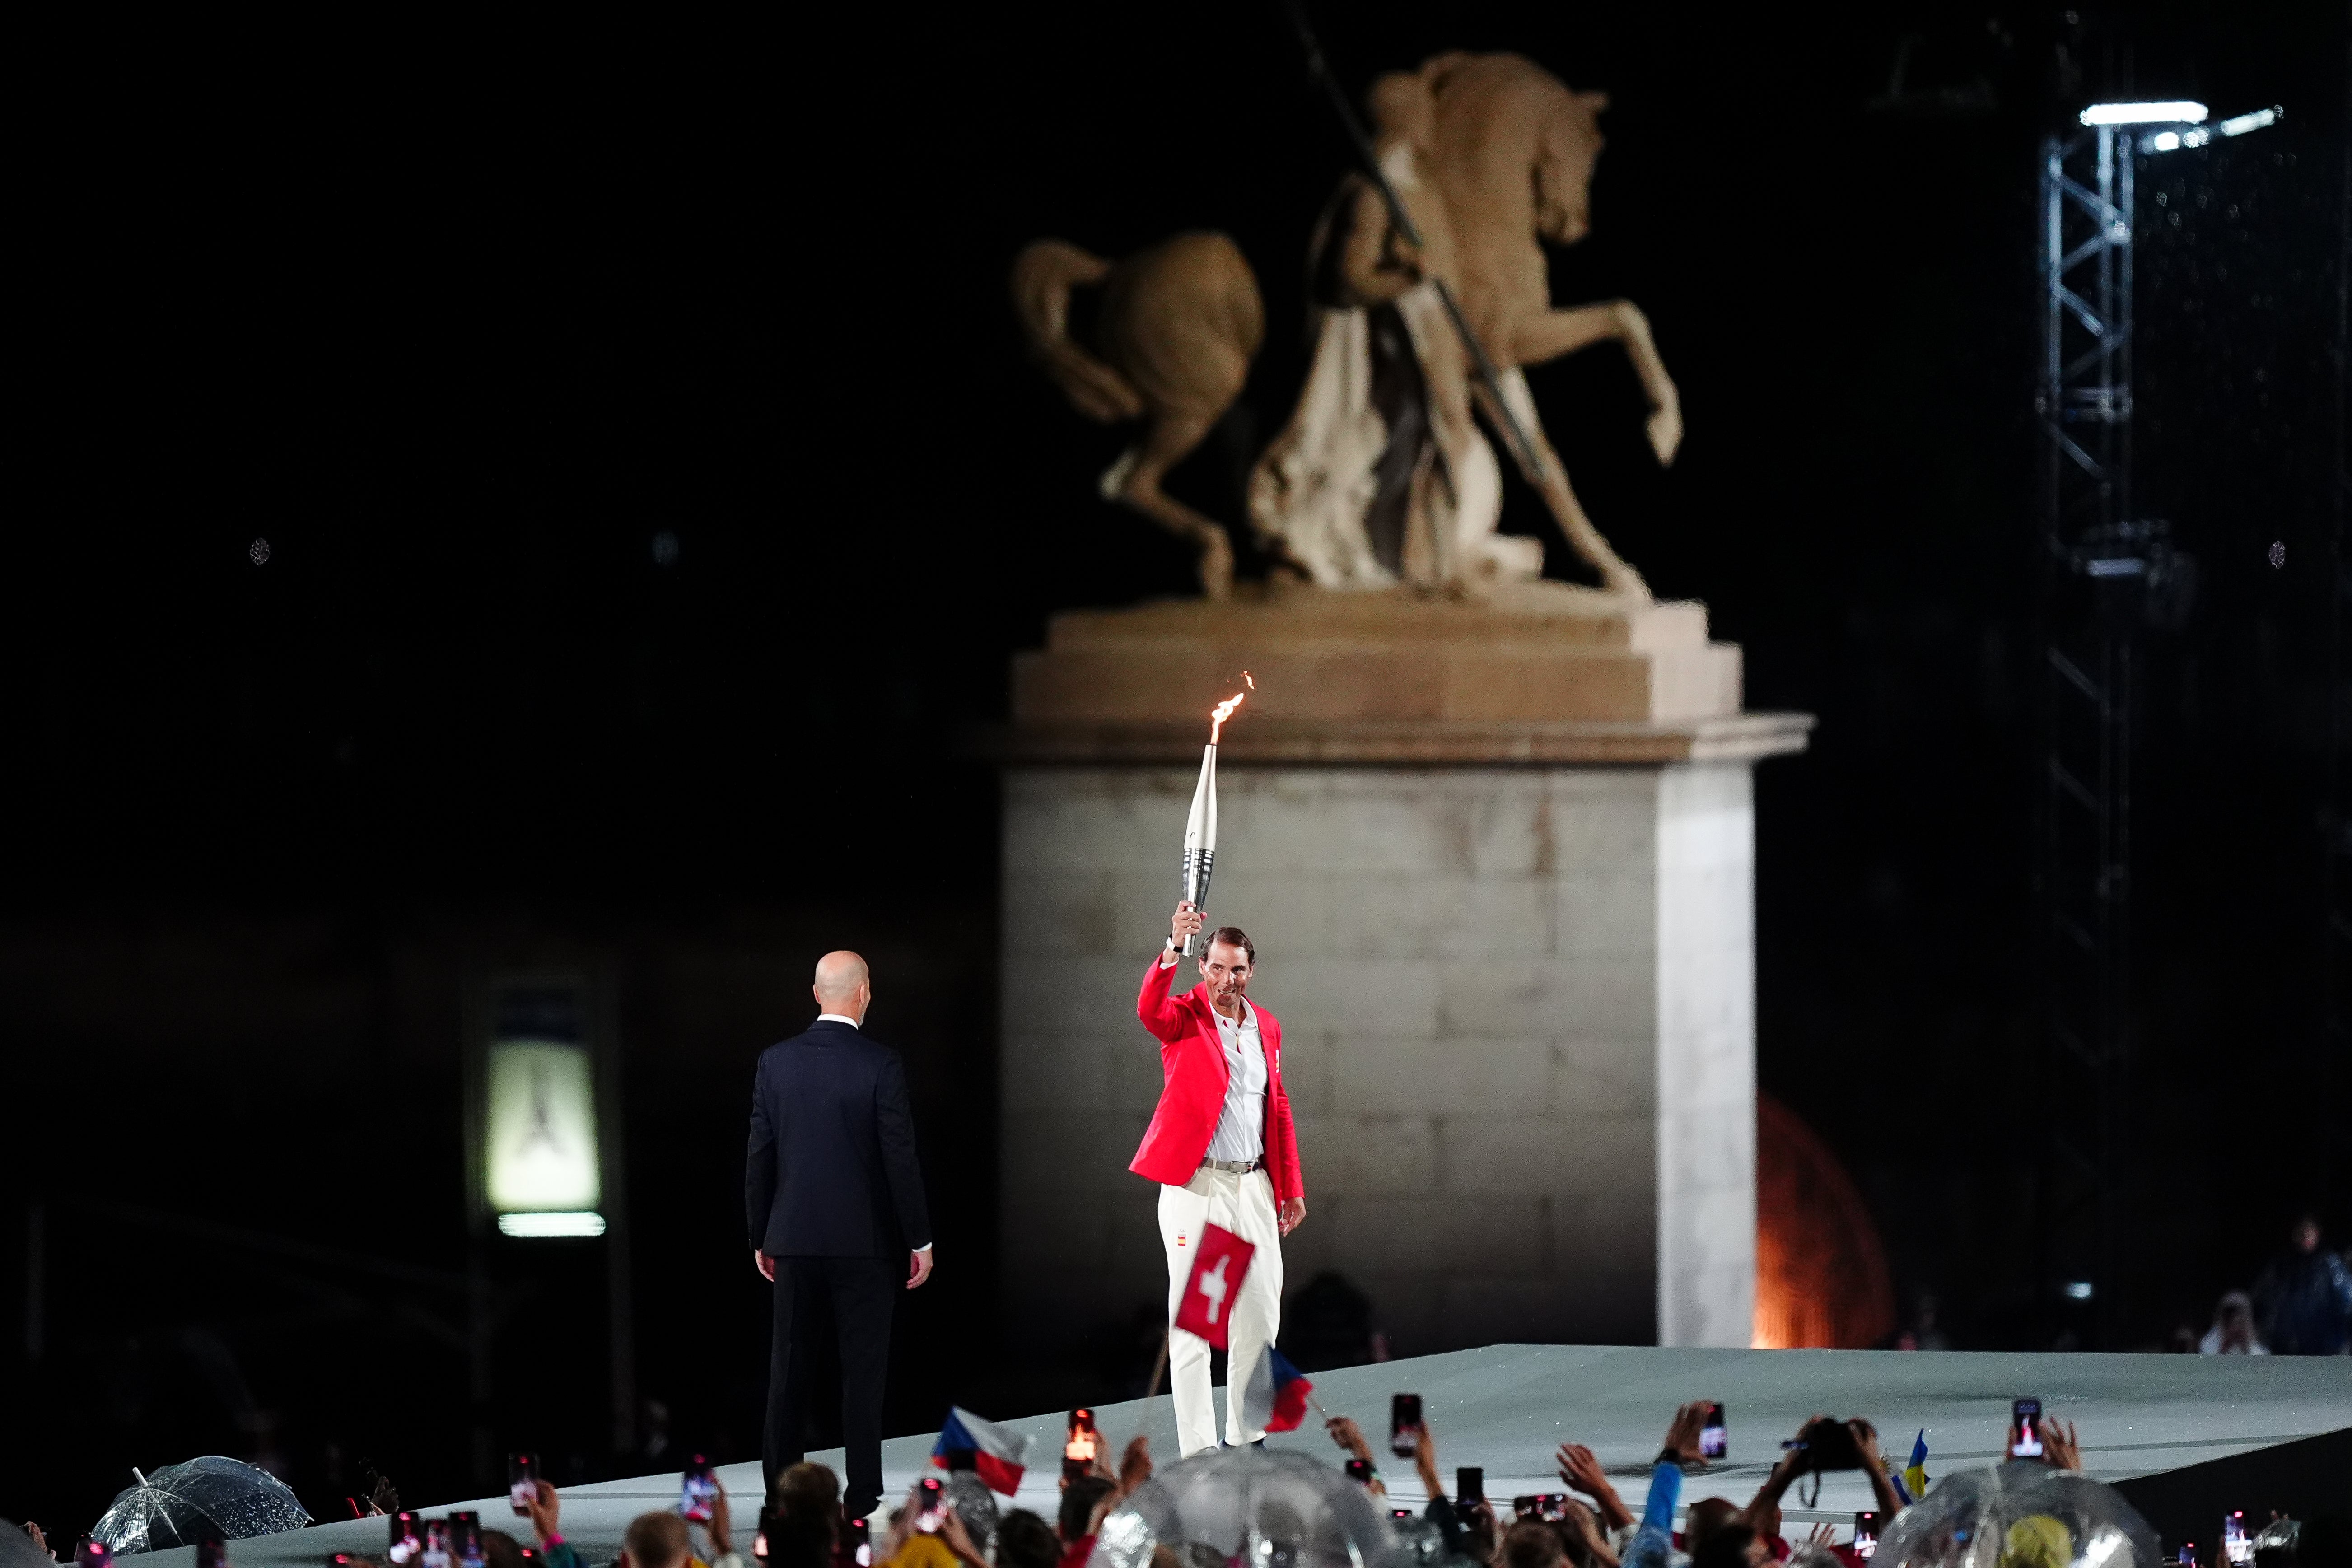
[[[769,1258],[889,1258],[929,1246],[898,1053],[823,1018],[762,1051],[743,1206],[750,1244]]]

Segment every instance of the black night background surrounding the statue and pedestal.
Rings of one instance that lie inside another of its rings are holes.
[[[1555,296],[1649,310],[1689,440],[1649,461],[1609,348],[1536,397],[1602,529],[1745,644],[1750,705],[1820,715],[1759,771],[1759,1077],[1962,1347],[2070,1333],[2018,1222],[2018,1150],[2070,1114],[2034,1070],[2037,139],[2100,96],[2288,106],[2143,165],[2140,510],[2201,597],[2147,656],[2164,1246],[2114,1342],[2201,1328],[2298,1204],[2352,1227],[2319,1051],[2345,9],[1327,9],[1352,87],[1472,47],[1611,94]],[[1049,611],[1188,564],[1094,498],[1120,435],[1023,364],[1004,268],[1047,233],[1242,242],[1268,348],[1178,482],[1237,522],[1341,146],[1256,5],[567,28],[108,38],[26,120],[0,1514],[52,1540],[202,1450],[320,1516],[367,1465],[480,1490],[461,1020],[534,966],[614,997],[635,1380],[673,1446],[757,1448],[743,1091],[833,945],[875,959],[938,1225],[889,1429],[1124,1375],[1105,1326],[1063,1366],[988,1349],[967,736]],[[557,1479],[675,1462],[647,1410],[614,1453],[600,1246],[489,1241],[496,1446]]]

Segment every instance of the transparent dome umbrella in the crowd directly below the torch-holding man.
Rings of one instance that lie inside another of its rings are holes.
[[[1094,1537],[1089,1568],[1390,1568],[1397,1537],[1362,1486],[1303,1453],[1228,1448],[1169,1465]]]

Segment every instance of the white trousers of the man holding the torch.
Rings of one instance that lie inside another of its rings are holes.
[[[1275,1220],[1275,1182],[1265,1171],[1232,1175],[1195,1171],[1183,1187],[1160,1190],[1160,1246],[1169,1255],[1169,1389],[1176,1394],[1176,1453],[1216,1448],[1216,1406],[1209,1396],[1209,1340],[1176,1328],[1176,1305],[1192,1276],[1202,1225],[1221,1225],[1258,1251],[1249,1258],[1242,1293],[1225,1328],[1225,1441],[1254,1443],[1242,1420],[1242,1392],[1258,1356],[1282,1331],[1282,1225]]]

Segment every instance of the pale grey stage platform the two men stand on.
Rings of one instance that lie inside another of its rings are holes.
[[[1635,1512],[1665,1422],[1684,1399],[1719,1399],[1731,1422],[1731,1458],[1696,1476],[1684,1488],[1686,1502],[1712,1495],[1745,1502],[1778,1458],[1780,1441],[1816,1413],[1877,1422],[1882,1446],[1896,1458],[1910,1453],[1912,1434],[1924,1427],[1931,1479],[1999,1462],[2009,1401],[2020,1394],[2039,1396],[2051,1415],[2079,1427],[2084,1469],[2103,1481],[2352,1427],[2352,1356],[1491,1345],[1315,1373],[1312,1382],[1322,1406],[1331,1415],[1352,1415],[1376,1446],[1388,1436],[1388,1396],[1421,1394],[1444,1476],[1451,1481],[1456,1465],[1482,1465],[1489,1497],[1559,1490],[1550,1469],[1552,1450],[1569,1441],[1585,1443],[1621,1476],[1618,1490]],[[1018,1505],[1047,1516],[1056,1500],[1063,1420],[1063,1410],[1051,1410],[1009,1422],[1035,1439]],[[1164,1394],[1148,1403],[1101,1406],[1098,1420],[1112,1446],[1145,1432],[1160,1462],[1176,1453],[1176,1415]],[[882,1446],[894,1497],[903,1497],[924,1472],[934,1439],[934,1432],[922,1432]],[[1341,1458],[1319,1425],[1277,1434],[1270,1446],[1298,1448],[1334,1465]],[[840,1469],[840,1450],[809,1458]],[[1381,1469],[1399,1505],[1421,1502],[1409,1462],[1383,1458]],[[720,1476],[736,1502],[736,1544],[748,1549],[760,1465],[727,1465]],[[416,1507],[414,1500],[409,1505]],[[675,1505],[675,1474],[576,1486],[564,1490],[562,1526],[590,1563],[609,1563],[630,1519]],[[1858,1507],[1867,1507],[1867,1493],[1853,1474],[1828,1476],[1811,1509],[1795,1505],[1797,1497],[1790,1495],[1790,1521],[1846,1523]],[[513,1516],[506,1497],[449,1502],[426,1507],[423,1514],[447,1509],[475,1509],[492,1528],[524,1523]],[[381,1556],[383,1533],[381,1519],[350,1519],[230,1542],[228,1559],[233,1568],[318,1568],[332,1552]],[[193,1568],[195,1554],[181,1547],[139,1561],[153,1568]]]

